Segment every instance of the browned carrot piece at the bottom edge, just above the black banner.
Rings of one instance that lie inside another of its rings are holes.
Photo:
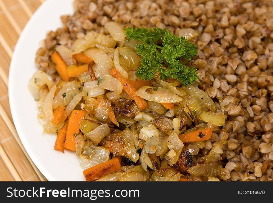
[[[111,159],[109,161],[99,163],[96,166],[87,168],[83,171],[86,181],[95,181],[103,176],[115,173],[121,170],[119,158]]]

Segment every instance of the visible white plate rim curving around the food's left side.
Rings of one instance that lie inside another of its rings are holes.
[[[35,53],[47,31],[61,27],[60,15],[73,14],[73,0],[47,0],[25,26],[14,50],[9,71],[9,102],[19,137],[38,169],[49,181],[83,181],[83,169],[75,152],[54,150],[56,135],[43,133],[38,108],[27,89],[37,70]]]

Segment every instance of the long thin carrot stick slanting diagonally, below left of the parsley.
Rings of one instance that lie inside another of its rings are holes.
[[[143,110],[147,107],[147,103],[143,98],[136,95],[136,89],[132,87],[132,85],[119,73],[119,71],[116,68],[112,68],[110,70],[110,74],[117,78],[119,82],[123,85],[123,90],[137,103],[137,106],[140,110]]]

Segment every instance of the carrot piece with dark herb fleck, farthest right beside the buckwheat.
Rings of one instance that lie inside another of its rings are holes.
[[[212,135],[212,129],[206,128],[203,130],[197,130],[190,133],[184,133],[181,135],[178,135],[182,142],[199,142],[208,140],[211,138]]]

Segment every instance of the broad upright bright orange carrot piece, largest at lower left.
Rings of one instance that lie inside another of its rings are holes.
[[[72,110],[66,131],[64,148],[75,151],[75,136],[74,134],[79,133],[79,124],[86,112],[82,110]]]

